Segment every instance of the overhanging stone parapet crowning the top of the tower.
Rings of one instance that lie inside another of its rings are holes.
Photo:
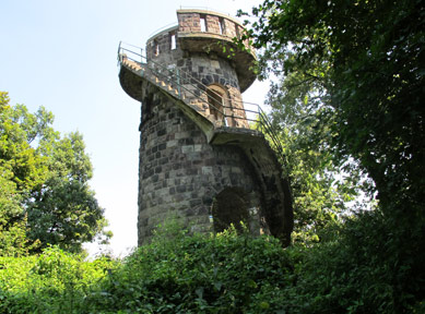
[[[235,19],[211,11],[177,10],[178,25],[162,31],[146,43],[146,58],[169,69],[178,68],[178,61],[193,55],[209,59],[222,59],[236,72],[240,92],[256,80],[251,65],[256,60],[253,50],[246,41],[246,49],[233,43],[244,33]],[[216,82],[217,83],[217,82]]]

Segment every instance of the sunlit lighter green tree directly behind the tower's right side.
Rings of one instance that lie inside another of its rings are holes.
[[[308,244],[327,237],[328,227],[340,225],[344,216],[366,208],[358,201],[365,198],[363,190],[369,182],[352,158],[335,160],[330,149],[332,116],[320,102],[320,90],[302,72],[283,80],[279,58],[264,51],[260,61],[268,67],[261,76],[269,71],[275,75],[267,105],[286,156],[284,168],[294,198],[293,240]]]

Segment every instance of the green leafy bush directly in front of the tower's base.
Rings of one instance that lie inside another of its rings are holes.
[[[161,230],[160,230],[161,233]],[[278,240],[237,235],[154,239],[87,298],[92,313],[275,313],[276,291],[293,286],[293,264]],[[105,298],[106,297],[106,298]],[[106,313],[106,312],[105,312]]]

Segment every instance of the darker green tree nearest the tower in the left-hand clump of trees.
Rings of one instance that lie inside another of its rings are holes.
[[[92,165],[81,134],[71,133],[50,144],[49,177],[26,203],[28,237],[80,251],[83,242],[95,239],[107,226],[104,209],[87,184]]]

